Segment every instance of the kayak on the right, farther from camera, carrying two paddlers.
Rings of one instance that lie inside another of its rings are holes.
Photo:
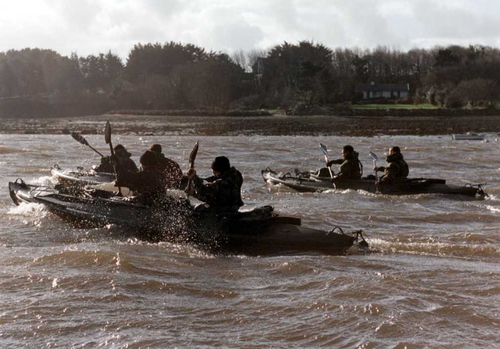
[[[332,189],[364,190],[369,193],[389,195],[412,194],[454,194],[484,198],[486,193],[482,184],[451,185],[444,179],[408,178],[391,184],[376,184],[373,176],[360,179],[337,179],[319,176],[318,172],[275,172],[270,168],[261,171],[262,178],[268,184],[281,184],[299,192],[321,192]]]

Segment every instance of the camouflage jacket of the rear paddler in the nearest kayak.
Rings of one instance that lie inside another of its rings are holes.
[[[235,209],[243,206],[241,200],[241,185],[243,176],[234,167],[224,173],[206,178],[208,183],[198,176],[192,179],[194,197],[215,209]]]

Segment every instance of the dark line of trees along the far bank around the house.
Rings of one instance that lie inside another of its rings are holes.
[[[16,115],[16,107],[81,114],[332,106],[358,101],[355,84],[371,81],[409,83],[414,103],[488,106],[500,94],[500,51],[480,45],[331,49],[300,41],[230,57],[171,41],[136,44],[123,62],[110,51],[66,57],[50,49],[9,50],[0,52],[0,116]]]

